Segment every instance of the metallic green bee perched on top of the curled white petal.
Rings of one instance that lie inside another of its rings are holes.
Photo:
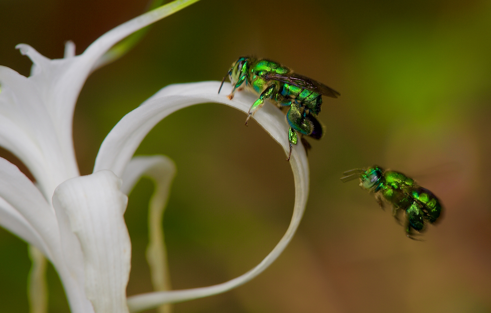
[[[296,74],[279,63],[265,59],[241,57],[232,65],[227,75],[234,85],[232,93],[228,95],[230,100],[234,97],[236,89],[247,89],[259,95],[249,109],[246,125],[250,117],[263,106],[267,99],[280,108],[290,107],[286,113],[286,120],[290,125],[288,130],[290,154],[287,161],[292,155],[292,145],[298,142],[295,131],[315,139],[322,137],[322,126],[316,119],[321,112],[322,95],[333,98],[340,96],[337,91],[320,82]],[[227,75],[223,77],[218,93]],[[301,141],[307,149],[310,147],[303,137]]]

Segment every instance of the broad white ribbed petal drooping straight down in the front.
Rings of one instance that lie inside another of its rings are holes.
[[[128,312],[131,242],[123,213],[128,197],[109,170],[67,180],[53,195],[82,248],[85,292],[96,313]]]

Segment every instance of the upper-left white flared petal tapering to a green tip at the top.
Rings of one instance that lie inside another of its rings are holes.
[[[72,141],[73,112],[96,62],[121,39],[196,1],[176,0],[142,14],[102,35],[78,56],[72,42],[66,43],[64,58],[54,60],[19,44],[17,48],[33,63],[29,77],[0,67],[0,119],[11,120],[20,129],[0,127],[0,145],[26,164],[46,199],[51,201],[61,182],[79,175]],[[36,151],[29,153],[32,150]]]

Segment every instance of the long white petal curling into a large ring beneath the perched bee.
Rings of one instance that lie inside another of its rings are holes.
[[[219,84],[211,81],[171,85],[162,89],[123,117],[109,132],[97,155],[94,171],[111,169],[117,175],[121,175],[146,134],[160,120],[181,108],[197,103],[217,102],[248,112],[251,103],[255,100],[253,96],[236,93],[232,101],[228,100],[225,95],[231,91],[231,87],[224,86],[222,94],[217,95]],[[255,114],[254,119],[283,147],[285,154],[288,153],[288,124],[284,114],[271,103],[266,103]],[[295,234],[307,202],[309,170],[305,150],[300,144],[293,147],[290,165],[295,178],[295,205],[292,220],[283,238],[259,265],[242,276],[215,286],[150,292],[130,297],[128,299],[130,311],[147,310],[163,303],[186,301],[233,289],[251,280],[273,263]]]

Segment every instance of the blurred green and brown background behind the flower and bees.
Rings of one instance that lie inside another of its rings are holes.
[[[145,11],[144,0],[0,0],[0,64],[28,75],[26,43],[77,54]],[[310,141],[310,197],[294,240],[263,274],[175,313],[491,312],[491,2],[480,0],[201,0],[154,25],[127,55],[92,74],[74,141],[82,174],[126,113],[160,88],[220,80],[239,56],[277,60],[341,93],[324,99]],[[259,263],[293,210],[293,175],[255,122],[218,104],[169,116],[137,154],[171,157],[178,173],[164,218],[174,289],[217,284]],[[2,156],[7,156],[3,153]],[[378,164],[433,191],[444,217],[424,242],[405,237],[341,172]],[[128,295],[151,291],[143,179],[126,220]],[[27,312],[27,245],[0,230],[0,313]],[[50,313],[68,312],[48,270]]]

